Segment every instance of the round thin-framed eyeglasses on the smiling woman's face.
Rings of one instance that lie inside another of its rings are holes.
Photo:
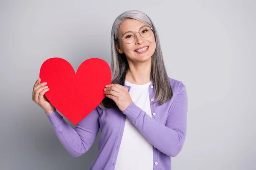
[[[118,39],[118,41],[119,41],[119,40],[124,40],[126,43],[131,44],[131,43],[133,43],[134,40],[135,40],[135,36],[136,36],[135,34],[136,34],[136,33],[137,33],[137,32],[133,33],[133,32],[131,32],[131,31],[125,32],[125,33],[123,34],[123,37],[120,38],[120,39]],[[141,37],[143,37],[143,38],[148,38],[148,37],[151,36],[152,28],[150,28],[149,26],[143,26],[142,28],[140,28],[140,30],[138,31],[138,33],[140,34]],[[117,42],[118,42],[118,41],[117,41]]]

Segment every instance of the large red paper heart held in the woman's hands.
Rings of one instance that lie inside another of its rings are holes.
[[[105,97],[105,85],[111,84],[111,69],[103,59],[90,58],[81,63],[75,73],[65,59],[47,59],[39,77],[47,82],[45,96],[52,105],[77,125]]]

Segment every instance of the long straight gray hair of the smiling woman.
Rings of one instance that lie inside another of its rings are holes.
[[[111,30],[111,84],[116,83],[124,86],[125,76],[129,67],[125,54],[120,54],[116,49],[116,44],[118,43],[119,38],[119,27],[126,19],[138,20],[152,28],[156,41],[156,50],[151,58],[151,82],[154,85],[154,102],[158,102],[158,105],[163,105],[172,98],[172,87],[170,85],[169,77],[164,65],[157,30],[151,19],[141,11],[125,11],[120,14],[113,23]],[[99,104],[99,107],[102,109],[114,108],[116,107],[116,104],[112,99],[105,96],[105,98]]]

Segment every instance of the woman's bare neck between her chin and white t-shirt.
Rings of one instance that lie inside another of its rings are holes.
[[[151,81],[151,59],[145,62],[128,61],[128,71],[125,79],[136,85],[143,85]]]

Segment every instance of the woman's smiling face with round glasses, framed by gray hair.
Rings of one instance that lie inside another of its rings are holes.
[[[156,49],[154,33],[151,30],[146,30],[145,26],[147,26],[145,23],[142,23],[138,20],[126,19],[119,27],[119,39],[124,37],[126,42],[129,42],[128,39],[132,39],[134,33],[137,32],[135,34],[134,42],[128,44],[121,39],[116,45],[117,51],[120,54],[124,53],[127,57],[127,60],[144,62],[151,59],[151,56],[154,54]],[[146,34],[146,31],[151,31],[150,37],[141,37],[140,33],[138,32],[139,30],[143,36]]]

